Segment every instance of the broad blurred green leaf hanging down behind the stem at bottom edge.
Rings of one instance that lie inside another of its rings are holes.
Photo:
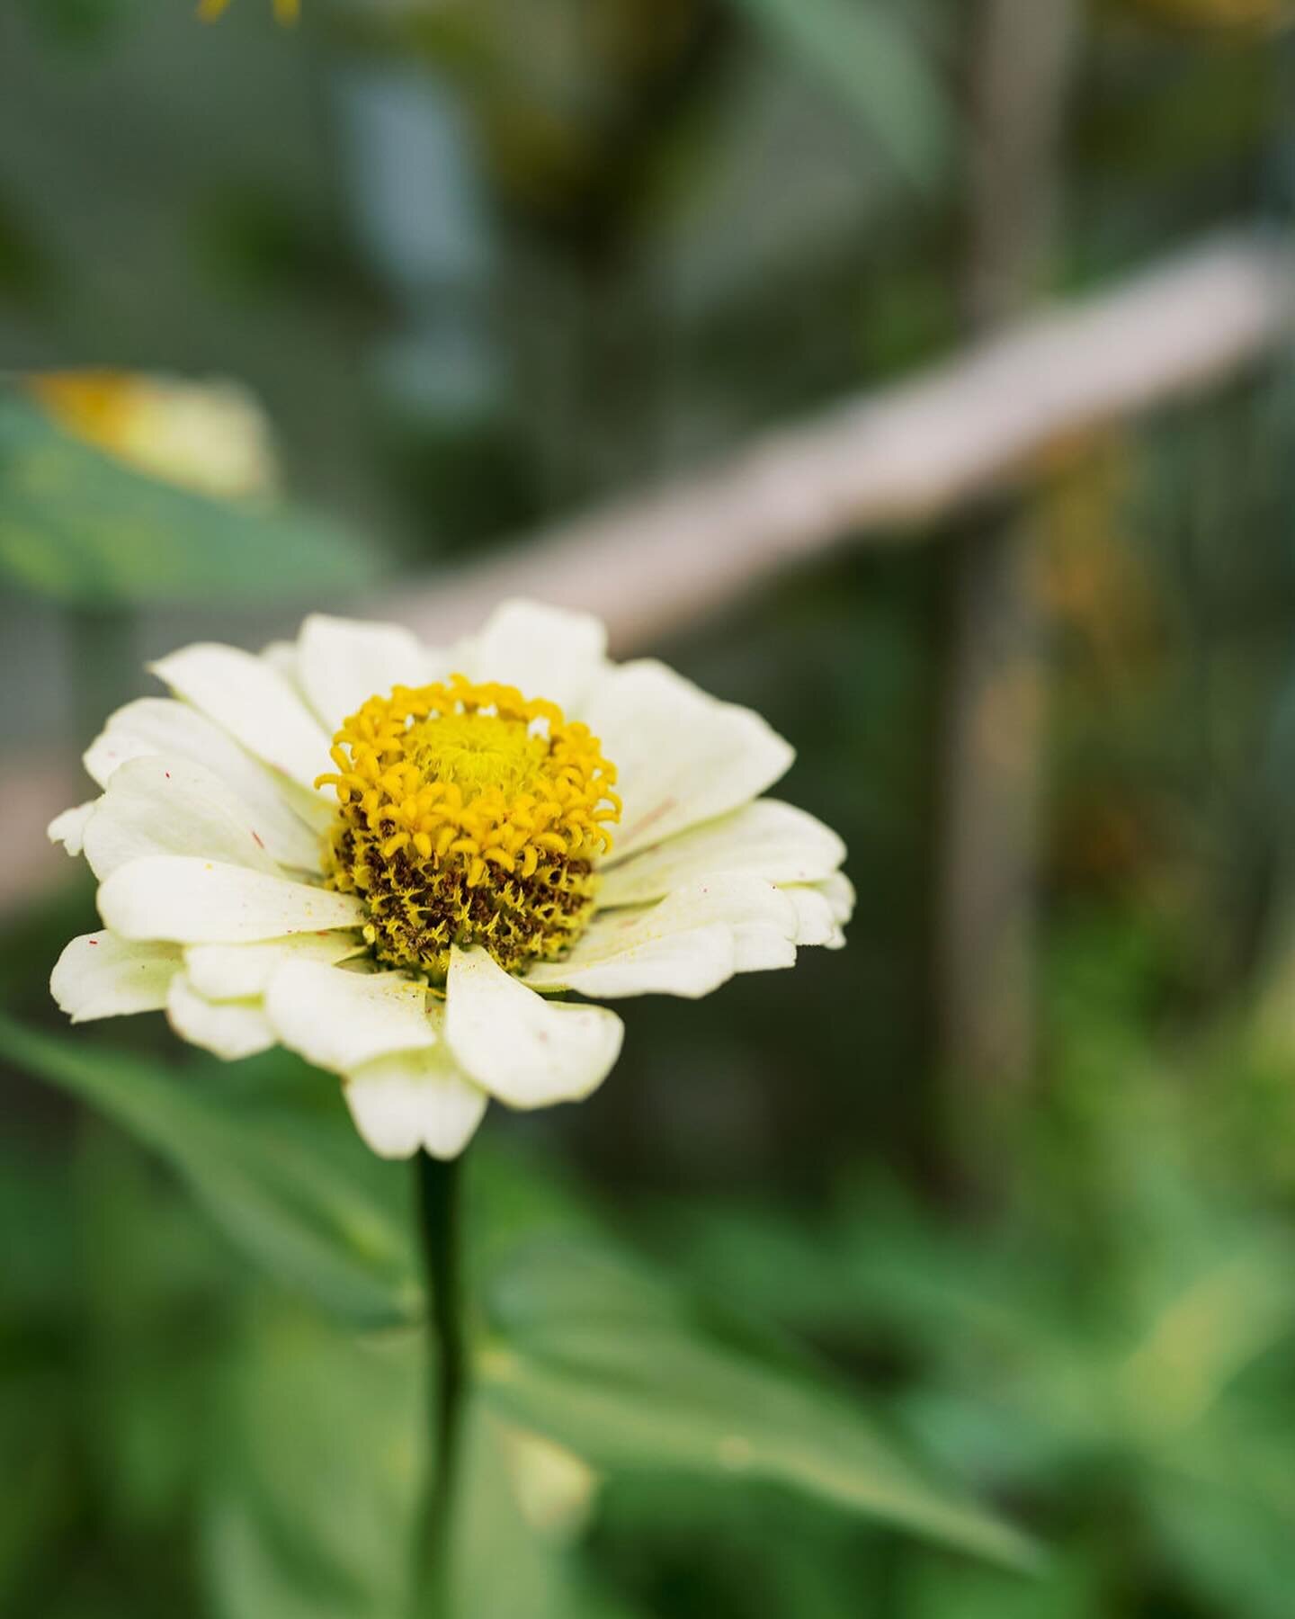
[[[215,1614],[403,1619],[427,1434],[422,1355],[416,1334],[356,1339],[283,1302],[249,1315],[204,1527]],[[503,1447],[500,1420],[471,1410],[455,1619],[612,1619],[567,1548],[524,1520]]]

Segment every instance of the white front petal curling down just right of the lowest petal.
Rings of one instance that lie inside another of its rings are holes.
[[[445,1039],[463,1072],[510,1107],[588,1096],[607,1078],[623,1035],[615,1012],[546,1002],[486,950],[450,955]]]

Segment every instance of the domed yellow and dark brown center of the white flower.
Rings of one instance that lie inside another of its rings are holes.
[[[555,703],[463,675],[372,696],[333,738],[330,889],[369,907],[364,936],[444,983],[450,947],[507,971],[555,960],[594,905],[620,819],[617,772]]]

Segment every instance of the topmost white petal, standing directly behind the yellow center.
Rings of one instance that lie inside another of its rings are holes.
[[[605,648],[607,630],[591,614],[510,601],[486,620],[466,674],[547,698],[570,714],[602,667]]]

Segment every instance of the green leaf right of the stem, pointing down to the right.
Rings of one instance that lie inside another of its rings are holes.
[[[490,1277],[497,1409],[610,1472],[788,1485],[996,1561],[1023,1535],[936,1483],[835,1387],[707,1334],[656,1279],[575,1243],[533,1245]]]

